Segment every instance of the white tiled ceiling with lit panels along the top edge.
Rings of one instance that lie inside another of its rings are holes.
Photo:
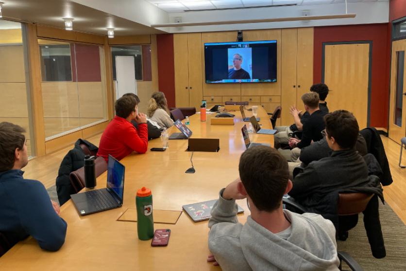
[[[147,0],[158,8],[169,12],[177,13],[193,10],[215,10],[228,8],[244,8],[257,6],[288,5],[298,6],[337,4],[345,0]],[[379,0],[347,0],[354,2],[373,2]]]

